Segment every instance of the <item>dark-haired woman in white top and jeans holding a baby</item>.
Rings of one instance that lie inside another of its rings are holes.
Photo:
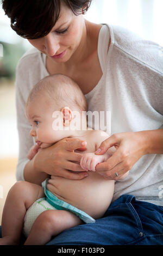
[[[73,78],[89,110],[104,111],[105,130],[111,137],[97,154],[113,145],[117,149],[108,161],[96,166],[105,178],[116,179],[113,202],[104,217],[64,231],[48,244],[162,244],[163,60],[159,46],[126,29],[86,21],[83,14],[91,0],[2,3],[12,29],[35,47],[21,58],[16,73],[17,180],[41,184],[49,175],[85,178],[77,163],[81,155],[73,151],[84,150],[80,140],[62,139],[40,150],[31,161],[27,159],[33,141],[24,105],[34,84],[49,74]],[[128,170],[128,177],[119,180]]]

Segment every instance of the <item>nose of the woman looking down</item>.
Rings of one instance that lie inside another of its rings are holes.
[[[59,50],[59,40],[57,36],[54,38],[54,35],[48,34],[45,36],[45,52],[48,56],[54,56]]]

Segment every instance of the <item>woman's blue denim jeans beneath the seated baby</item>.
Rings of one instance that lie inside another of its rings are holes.
[[[103,218],[67,229],[47,245],[163,245],[163,207],[123,195]]]

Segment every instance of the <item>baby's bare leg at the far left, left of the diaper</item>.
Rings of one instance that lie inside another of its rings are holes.
[[[18,181],[11,187],[2,215],[0,245],[16,245],[20,241],[24,216],[35,200],[44,196],[43,188],[27,181]]]

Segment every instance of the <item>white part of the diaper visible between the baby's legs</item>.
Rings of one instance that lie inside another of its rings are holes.
[[[46,210],[57,210],[51,204],[49,204],[45,198],[37,199],[27,210],[24,217],[23,223],[23,234],[27,237],[29,235],[30,229],[32,228],[33,223],[36,218],[41,214],[41,212]]]

